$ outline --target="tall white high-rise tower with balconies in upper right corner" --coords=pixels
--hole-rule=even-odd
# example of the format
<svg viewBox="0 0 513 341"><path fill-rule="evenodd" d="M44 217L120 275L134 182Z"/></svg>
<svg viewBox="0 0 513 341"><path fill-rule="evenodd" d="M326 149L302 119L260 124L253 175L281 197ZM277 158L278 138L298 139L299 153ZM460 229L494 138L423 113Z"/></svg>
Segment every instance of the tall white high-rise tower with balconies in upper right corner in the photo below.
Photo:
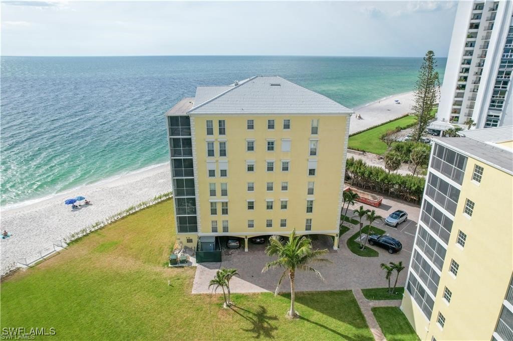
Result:
<svg viewBox="0 0 513 341"><path fill-rule="evenodd" d="M513 2L461 1L437 120L475 128L513 124Z"/></svg>

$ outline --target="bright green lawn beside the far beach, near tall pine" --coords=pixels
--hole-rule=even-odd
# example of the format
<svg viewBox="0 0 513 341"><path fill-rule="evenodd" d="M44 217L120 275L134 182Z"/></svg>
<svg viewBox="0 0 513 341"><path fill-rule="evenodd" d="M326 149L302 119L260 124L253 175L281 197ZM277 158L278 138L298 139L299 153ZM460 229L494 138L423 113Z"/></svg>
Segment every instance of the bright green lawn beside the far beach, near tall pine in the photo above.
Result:
<svg viewBox="0 0 513 341"><path fill-rule="evenodd" d="M415 122L415 116L406 116L353 135L349 137L348 148L383 155L387 151L387 146L380 140L380 136L398 126L405 129L413 122Z"/></svg>

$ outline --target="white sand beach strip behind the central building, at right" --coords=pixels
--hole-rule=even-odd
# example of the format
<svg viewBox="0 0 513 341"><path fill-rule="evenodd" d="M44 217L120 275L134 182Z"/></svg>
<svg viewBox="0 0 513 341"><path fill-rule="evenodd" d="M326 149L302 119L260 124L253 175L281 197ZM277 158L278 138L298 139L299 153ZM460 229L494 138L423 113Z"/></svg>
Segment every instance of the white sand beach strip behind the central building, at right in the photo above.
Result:
<svg viewBox="0 0 513 341"><path fill-rule="evenodd" d="M394 100L401 104L396 104ZM349 134L358 133L371 126L401 117L410 112L413 104L413 92L392 95L380 100L354 108L355 114L351 116ZM362 119L357 119L361 115Z"/></svg>

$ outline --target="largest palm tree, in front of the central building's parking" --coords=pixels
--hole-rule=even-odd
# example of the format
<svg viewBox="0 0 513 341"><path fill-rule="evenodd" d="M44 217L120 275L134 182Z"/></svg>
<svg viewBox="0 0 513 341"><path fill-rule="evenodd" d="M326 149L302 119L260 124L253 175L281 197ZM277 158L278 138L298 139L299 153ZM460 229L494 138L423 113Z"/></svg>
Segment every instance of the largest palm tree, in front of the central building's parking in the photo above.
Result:
<svg viewBox="0 0 513 341"><path fill-rule="evenodd" d="M272 268L285 269L280 277L280 280L278 281L278 286L274 291L274 295L278 294L280 284L282 283L285 276L288 274L290 279L290 310L287 311L287 316L289 318L294 318L298 316L298 313L294 310L295 271L312 271L321 280L323 280L321 273L318 270L309 266L308 264L313 262L330 262L325 258L320 258L321 255L327 252L327 249L312 250L312 244L310 239L304 236L296 236L295 229L293 229L292 232L290 232L290 236L286 242L283 241L282 237L280 236L272 236L271 238L269 238L269 245L267 245L265 253L267 253L267 255L270 256L277 255L278 259L268 262L262 269L262 272L265 272Z"/></svg>

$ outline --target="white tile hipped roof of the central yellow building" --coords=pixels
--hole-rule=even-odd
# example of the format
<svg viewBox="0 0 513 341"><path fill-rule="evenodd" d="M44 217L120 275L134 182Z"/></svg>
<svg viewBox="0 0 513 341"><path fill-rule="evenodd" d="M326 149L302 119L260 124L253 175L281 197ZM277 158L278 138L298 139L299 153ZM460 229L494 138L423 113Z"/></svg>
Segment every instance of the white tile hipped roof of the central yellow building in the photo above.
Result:
<svg viewBox="0 0 513 341"><path fill-rule="evenodd" d="M326 96L278 76L255 76L228 87L199 87L189 114L349 114Z"/></svg>

